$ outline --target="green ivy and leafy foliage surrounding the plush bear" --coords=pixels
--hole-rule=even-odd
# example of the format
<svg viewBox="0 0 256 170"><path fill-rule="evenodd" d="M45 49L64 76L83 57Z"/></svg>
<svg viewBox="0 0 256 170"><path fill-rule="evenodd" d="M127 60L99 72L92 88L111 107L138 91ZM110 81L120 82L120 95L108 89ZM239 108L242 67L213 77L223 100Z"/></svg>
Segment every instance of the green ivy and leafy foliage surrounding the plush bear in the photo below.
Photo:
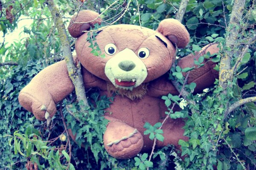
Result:
<svg viewBox="0 0 256 170"><path fill-rule="evenodd" d="M101 13L113 2L55 1L66 24L79 9L86 8ZM118 1L104 12L102 18L109 20L109 23L115 21L127 3ZM116 24L140 25L137 3L141 25L152 29L156 29L165 18L175 18L180 6L180 0L131 0L128 12ZM186 48L178 49L177 56L184 57L199 51L202 46L211 42L224 44L224 37L228 34L225 28L229 23L233 3L233 0L190 0L182 23L188 29L191 40ZM86 113L81 104L73 102L75 95L72 94L58 105L59 111L49 127L19 105L19 91L39 71L61 59L61 44L44 0L2 0L0 12L0 31L3 35L0 63L11 61L15 64L0 67L0 169L171 169L175 165L184 169L256 169L255 103L242 105L227 117L224 117L224 108L220 107L227 102L233 103L242 98L256 96L255 44L250 46L236 76L229 82L232 88L227 89L227 94L221 93L218 80L215 87L200 95L192 95L193 87L186 86L190 92L188 99L196 101L196 105L187 105L182 112L174 113L176 117L181 115L187 118L184 129L189 141L180 141L183 150L181 155L186 155L184 161L177 157L172 146L154 150L153 159L150 161L150 153L141 153L135 159L116 160L108 156L102 144L102 133L107 122L101 115L111 99L99 96L97 89L87 91L91 105L89 113ZM7 34L19 31L15 28L24 17L32 19L30 26L24 27L26 37L14 42L4 40ZM255 23L255 0L246 0L243 19L240 21L241 35L239 34L238 44L242 46L242 38L255 31ZM71 37L70 42L74 50L74 39ZM221 57L219 54L212 60L218 62ZM235 62L234 59L233 63ZM171 74L177 75L179 72L181 70L176 68ZM176 77L181 82L183 78ZM167 107L175 101L178 104L183 102L173 96L163 99L167 101ZM191 109L195 112L191 113ZM70 140L71 159L67 140L58 139L62 133L67 136L60 111L68 128L77 132L77 144ZM81 144L85 149L80 148ZM71 164L68 164L69 161Z"/></svg>

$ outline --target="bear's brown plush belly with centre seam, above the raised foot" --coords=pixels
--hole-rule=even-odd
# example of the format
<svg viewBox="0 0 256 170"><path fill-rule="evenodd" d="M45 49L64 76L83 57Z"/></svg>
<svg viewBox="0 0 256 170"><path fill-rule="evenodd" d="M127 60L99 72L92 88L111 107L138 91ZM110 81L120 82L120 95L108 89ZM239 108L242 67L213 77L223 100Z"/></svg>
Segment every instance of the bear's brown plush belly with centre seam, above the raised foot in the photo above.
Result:
<svg viewBox="0 0 256 170"><path fill-rule="evenodd" d="M108 92L102 91L101 94L106 95ZM149 122L151 125L160 122L160 119L165 117L167 108L164 100L160 98L145 95L143 99L131 100L126 96L116 95L110 108L107 108L106 111L106 116L119 119L142 130L145 122Z"/></svg>

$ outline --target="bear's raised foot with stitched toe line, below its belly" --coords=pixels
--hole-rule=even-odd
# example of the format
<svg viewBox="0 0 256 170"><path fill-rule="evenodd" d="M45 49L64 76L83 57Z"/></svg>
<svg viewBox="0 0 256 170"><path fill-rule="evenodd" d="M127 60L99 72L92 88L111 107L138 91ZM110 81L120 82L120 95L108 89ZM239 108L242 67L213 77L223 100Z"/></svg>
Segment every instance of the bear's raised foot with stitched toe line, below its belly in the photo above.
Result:
<svg viewBox="0 0 256 170"><path fill-rule="evenodd" d="M105 116L111 122L103 135L105 149L117 159L128 159L136 156L143 147L141 133L118 119Z"/></svg>

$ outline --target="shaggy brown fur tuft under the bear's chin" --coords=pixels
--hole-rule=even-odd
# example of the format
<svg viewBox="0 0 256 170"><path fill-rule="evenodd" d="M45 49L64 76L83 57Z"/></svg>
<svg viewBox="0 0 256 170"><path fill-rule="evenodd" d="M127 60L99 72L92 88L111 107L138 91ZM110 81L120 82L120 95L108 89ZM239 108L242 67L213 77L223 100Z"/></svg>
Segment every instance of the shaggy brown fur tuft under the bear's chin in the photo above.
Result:
<svg viewBox="0 0 256 170"><path fill-rule="evenodd" d="M126 96L131 100L142 99L148 91L148 83L143 83L132 91L129 91L122 88L116 88L111 82L107 82L107 89L110 94L116 93L122 97Z"/></svg>

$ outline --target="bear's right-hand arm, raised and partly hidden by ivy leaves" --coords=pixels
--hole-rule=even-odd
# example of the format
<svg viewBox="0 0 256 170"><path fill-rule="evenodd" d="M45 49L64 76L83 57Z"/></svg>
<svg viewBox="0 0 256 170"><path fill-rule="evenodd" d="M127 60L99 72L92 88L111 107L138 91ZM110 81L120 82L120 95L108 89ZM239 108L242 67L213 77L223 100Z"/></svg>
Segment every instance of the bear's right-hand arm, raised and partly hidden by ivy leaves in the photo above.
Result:
<svg viewBox="0 0 256 170"><path fill-rule="evenodd" d="M177 65L181 68L186 67L194 67L194 60L198 60L200 56L207 54L209 51L210 54L218 53L217 44L207 45L202 48L201 51L197 52L195 55L189 54L186 57L180 59ZM204 61L205 65L201 68L195 68L194 70L189 72L189 76L187 79L187 84L191 82L196 83L196 88L194 93L198 93L203 91L205 88L210 87L215 82L215 79L218 79L218 71L215 71L213 68L215 67L215 63L212 61ZM186 74L183 73L183 76L186 77ZM154 97L166 96L169 93L172 95L178 95L179 92L176 90L172 82L168 79L169 74L166 73L163 76L154 79L148 85L148 95Z"/></svg>

